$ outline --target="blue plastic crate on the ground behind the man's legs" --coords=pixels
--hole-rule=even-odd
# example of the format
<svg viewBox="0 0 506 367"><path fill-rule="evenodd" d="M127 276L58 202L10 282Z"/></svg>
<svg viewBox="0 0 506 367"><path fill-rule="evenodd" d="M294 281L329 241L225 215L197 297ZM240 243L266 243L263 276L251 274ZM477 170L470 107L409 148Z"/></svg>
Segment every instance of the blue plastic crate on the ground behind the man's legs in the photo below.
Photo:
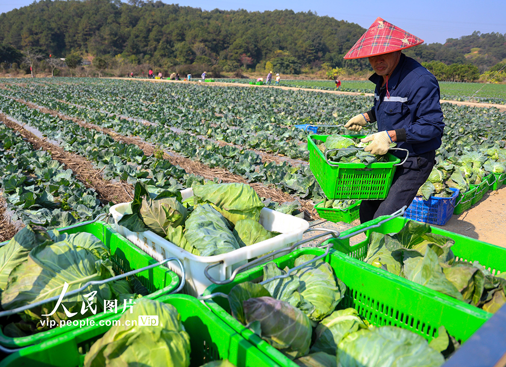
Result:
<svg viewBox="0 0 506 367"><path fill-rule="evenodd" d="M450 197L431 196L429 200L424 200L423 197L416 196L404 212L404 218L444 226L453 215L458 196L458 189L450 188L450 190L453 191Z"/></svg>

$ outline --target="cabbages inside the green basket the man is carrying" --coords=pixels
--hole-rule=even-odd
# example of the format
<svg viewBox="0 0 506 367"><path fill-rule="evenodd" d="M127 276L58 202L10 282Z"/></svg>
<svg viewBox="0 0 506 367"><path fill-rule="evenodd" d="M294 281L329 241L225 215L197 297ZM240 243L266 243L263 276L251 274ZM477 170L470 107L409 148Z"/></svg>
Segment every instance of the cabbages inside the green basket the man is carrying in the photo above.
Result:
<svg viewBox="0 0 506 367"><path fill-rule="evenodd" d="M317 147L323 152L323 155L331 149L364 148L370 144L370 142L362 143L360 138L350 139L343 135L329 135L325 142L321 140L314 140L314 142L319 144ZM391 144L391 147L395 146L395 143ZM333 151L328 154L328 159L332 162L362 163L364 165L387 161L384 155L371 154L363 149Z"/></svg>

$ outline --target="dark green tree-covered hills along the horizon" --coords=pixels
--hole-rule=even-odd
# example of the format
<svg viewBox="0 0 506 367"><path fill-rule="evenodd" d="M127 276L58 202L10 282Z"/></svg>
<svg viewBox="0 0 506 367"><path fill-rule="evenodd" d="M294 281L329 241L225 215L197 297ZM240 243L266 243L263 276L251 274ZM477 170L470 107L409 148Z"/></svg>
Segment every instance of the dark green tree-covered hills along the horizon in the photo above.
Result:
<svg viewBox="0 0 506 367"><path fill-rule="evenodd" d="M310 11L202 11L160 1L42 0L0 15L0 62L4 69L19 64L30 50L40 59L98 58L95 64L102 69L120 60L164 70L205 65L216 76L268 68L285 74L322 68L354 73L370 69L367 60L343 59L364 31L355 23ZM405 53L432 63L433 70L466 65L453 66L446 74L443 70L449 80L457 69L465 78L477 79L506 59L506 36L476 31Z"/></svg>

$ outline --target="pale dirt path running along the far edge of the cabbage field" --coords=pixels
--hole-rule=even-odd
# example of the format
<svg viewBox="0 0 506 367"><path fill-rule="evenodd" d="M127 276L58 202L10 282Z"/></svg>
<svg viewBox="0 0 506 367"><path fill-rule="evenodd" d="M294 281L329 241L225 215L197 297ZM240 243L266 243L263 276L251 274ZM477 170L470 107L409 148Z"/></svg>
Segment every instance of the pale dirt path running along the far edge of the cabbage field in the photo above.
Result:
<svg viewBox="0 0 506 367"><path fill-rule="evenodd" d="M111 79L120 79L120 80L133 80L133 81L150 81L151 83L192 83L191 81L184 80L170 80L170 79L132 79L132 78L111 78ZM198 83L198 82L197 82ZM283 86L257 86L255 84L242 84L242 83L226 83L223 81L209 81L206 83L200 83L200 85L206 86L221 86L221 87L252 87L252 88L279 88L285 91L309 91L309 92L319 92L319 93L330 93L330 94L344 94L349 96L367 96L374 97L374 93L359 93L359 92L341 92L341 91L327 91L324 89L309 89L309 88L299 88L299 87L283 87ZM472 106L472 107L484 107L490 108L495 107L500 109L501 111L506 111L506 105L497 104L497 103L477 103L477 102L461 102L461 101L450 101L441 99L440 103L451 103L459 106Z"/></svg>

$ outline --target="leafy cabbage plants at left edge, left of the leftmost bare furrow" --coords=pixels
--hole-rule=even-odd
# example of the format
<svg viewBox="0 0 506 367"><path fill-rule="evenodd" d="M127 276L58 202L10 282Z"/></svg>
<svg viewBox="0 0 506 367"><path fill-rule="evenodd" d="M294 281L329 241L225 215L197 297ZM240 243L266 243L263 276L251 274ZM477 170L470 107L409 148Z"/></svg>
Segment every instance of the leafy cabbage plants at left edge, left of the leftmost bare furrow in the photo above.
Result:
<svg viewBox="0 0 506 367"><path fill-rule="evenodd" d="M0 183L13 221L61 227L108 211L72 170L0 124Z"/></svg>

